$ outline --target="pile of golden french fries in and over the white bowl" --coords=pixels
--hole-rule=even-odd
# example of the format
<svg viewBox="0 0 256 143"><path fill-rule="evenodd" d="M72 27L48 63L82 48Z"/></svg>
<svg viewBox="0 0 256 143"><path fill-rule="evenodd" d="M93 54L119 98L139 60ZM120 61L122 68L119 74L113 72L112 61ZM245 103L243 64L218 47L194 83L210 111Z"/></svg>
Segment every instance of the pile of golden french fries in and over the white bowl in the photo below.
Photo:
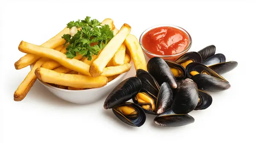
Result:
<svg viewBox="0 0 256 143"><path fill-rule="evenodd" d="M105 86L108 82L131 69L131 59L135 69L147 71L146 61L137 38L130 34L131 26L123 24L116 29L113 20L107 18L102 26L108 24L114 37L98 55L87 60L79 53L73 59L67 58L63 34L69 34L67 27L41 46L20 42L18 49L26 53L15 62L15 69L32 65L22 83L14 93L14 100L26 97L36 79L52 86L67 90L84 90Z"/></svg>

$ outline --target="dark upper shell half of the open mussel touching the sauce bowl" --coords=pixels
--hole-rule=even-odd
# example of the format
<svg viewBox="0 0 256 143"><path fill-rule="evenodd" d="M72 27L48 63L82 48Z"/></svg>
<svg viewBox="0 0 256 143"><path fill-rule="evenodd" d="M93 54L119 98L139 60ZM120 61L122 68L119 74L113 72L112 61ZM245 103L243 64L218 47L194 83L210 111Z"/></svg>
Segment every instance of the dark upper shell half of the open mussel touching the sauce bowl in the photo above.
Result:
<svg viewBox="0 0 256 143"><path fill-rule="evenodd" d="M202 63L202 57L198 52L190 51L183 55L181 55L177 60L175 60L176 63L181 63L184 60L193 60L194 62Z"/></svg>

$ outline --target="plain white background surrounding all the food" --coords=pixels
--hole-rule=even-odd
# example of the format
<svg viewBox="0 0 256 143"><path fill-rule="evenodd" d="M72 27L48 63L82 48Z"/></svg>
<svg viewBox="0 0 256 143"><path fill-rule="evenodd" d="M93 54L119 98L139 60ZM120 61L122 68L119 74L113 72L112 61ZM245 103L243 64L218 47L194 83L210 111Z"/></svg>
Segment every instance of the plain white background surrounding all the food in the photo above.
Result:
<svg viewBox="0 0 256 143"><path fill-rule="evenodd" d="M248 2L59 2L0 3L0 143L255 143L256 4ZM49 93L38 82L21 102L13 100L29 67L15 70L24 54L21 40L41 45L71 20L86 16L99 21L112 18L120 29L131 26L138 38L148 27L174 24L192 36L190 51L214 44L216 53L239 63L224 74L231 88L210 93L212 105L189 113L195 123L163 128L147 115L140 128L122 123L102 99L91 105L68 103ZM134 68L128 74L134 76Z"/></svg>

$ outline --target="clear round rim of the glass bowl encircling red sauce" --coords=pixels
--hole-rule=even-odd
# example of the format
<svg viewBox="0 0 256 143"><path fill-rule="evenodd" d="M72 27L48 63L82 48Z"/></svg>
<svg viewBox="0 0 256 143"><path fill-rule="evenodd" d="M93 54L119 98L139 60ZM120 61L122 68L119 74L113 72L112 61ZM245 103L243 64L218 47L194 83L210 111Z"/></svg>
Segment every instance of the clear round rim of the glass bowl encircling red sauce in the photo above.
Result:
<svg viewBox="0 0 256 143"><path fill-rule="evenodd" d="M173 28L179 29L179 30L183 31L189 37L189 44L188 44L188 46L182 52L177 53L177 54L172 54L172 55L158 55L158 54L151 53L150 51L148 51L147 49L144 48L144 46L142 44L143 36L148 31L150 31L151 29L158 28L158 27L163 27L163 26L173 27ZM159 25L151 26L148 29L146 29L145 31L143 31L143 33L140 35L139 42L140 42L140 46L143 49L143 51L146 52L147 54L151 55L151 56L154 56L154 57L177 57L177 56L180 56L180 55L186 53L187 51L189 51L189 49L192 46L192 37L190 36L188 31L186 31L185 29L183 29L183 28L181 28L179 26L172 25L172 24L159 24Z"/></svg>

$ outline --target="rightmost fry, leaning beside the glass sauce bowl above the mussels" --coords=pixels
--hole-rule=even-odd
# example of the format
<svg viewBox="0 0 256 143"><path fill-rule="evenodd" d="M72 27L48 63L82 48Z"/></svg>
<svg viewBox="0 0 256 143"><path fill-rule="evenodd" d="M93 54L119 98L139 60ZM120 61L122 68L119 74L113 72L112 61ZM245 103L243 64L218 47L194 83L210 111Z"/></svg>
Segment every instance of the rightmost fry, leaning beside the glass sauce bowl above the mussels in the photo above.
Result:
<svg viewBox="0 0 256 143"><path fill-rule="evenodd" d="M136 71L137 69L143 69L147 71L145 56L137 38L134 35L129 34L125 39L125 46L131 53Z"/></svg>

